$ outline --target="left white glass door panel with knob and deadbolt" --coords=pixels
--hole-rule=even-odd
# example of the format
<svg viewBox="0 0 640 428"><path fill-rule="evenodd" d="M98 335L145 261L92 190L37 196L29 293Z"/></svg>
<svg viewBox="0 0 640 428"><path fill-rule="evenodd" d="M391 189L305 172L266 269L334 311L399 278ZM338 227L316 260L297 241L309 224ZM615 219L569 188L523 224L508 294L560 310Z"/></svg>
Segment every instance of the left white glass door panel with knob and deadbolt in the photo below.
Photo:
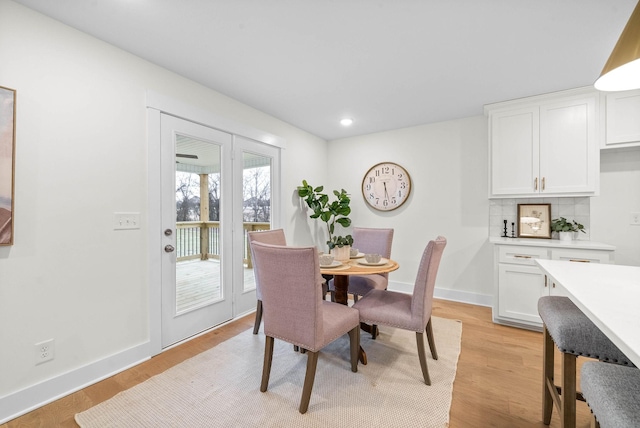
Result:
<svg viewBox="0 0 640 428"><path fill-rule="evenodd" d="M165 114L160 124L165 348L233 317L233 137Z"/></svg>

